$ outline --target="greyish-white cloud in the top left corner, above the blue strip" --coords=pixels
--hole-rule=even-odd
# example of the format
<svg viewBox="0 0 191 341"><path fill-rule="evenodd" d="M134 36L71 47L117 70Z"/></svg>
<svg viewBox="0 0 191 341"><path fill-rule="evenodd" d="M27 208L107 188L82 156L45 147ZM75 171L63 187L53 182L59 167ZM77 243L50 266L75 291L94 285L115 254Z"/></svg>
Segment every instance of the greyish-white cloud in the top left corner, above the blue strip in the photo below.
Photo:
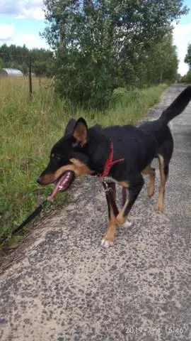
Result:
<svg viewBox="0 0 191 341"><path fill-rule="evenodd" d="M45 18L43 0L0 0L0 14L16 16L16 18Z"/></svg>

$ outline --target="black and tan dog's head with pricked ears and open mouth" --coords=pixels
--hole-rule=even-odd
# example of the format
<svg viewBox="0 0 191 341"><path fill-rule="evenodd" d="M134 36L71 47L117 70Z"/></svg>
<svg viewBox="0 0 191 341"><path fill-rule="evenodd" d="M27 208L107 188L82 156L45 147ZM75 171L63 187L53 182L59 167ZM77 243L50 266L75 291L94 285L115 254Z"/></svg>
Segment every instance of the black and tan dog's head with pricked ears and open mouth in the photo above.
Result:
<svg viewBox="0 0 191 341"><path fill-rule="evenodd" d="M54 183L57 193L58 190L69 188L76 176L95 173L92 159L96 154L100 155L102 140L104 141L104 138L100 126L88 129L83 118L78 121L71 119L62 139L52 147L50 162L37 178L37 183L40 185Z"/></svg>

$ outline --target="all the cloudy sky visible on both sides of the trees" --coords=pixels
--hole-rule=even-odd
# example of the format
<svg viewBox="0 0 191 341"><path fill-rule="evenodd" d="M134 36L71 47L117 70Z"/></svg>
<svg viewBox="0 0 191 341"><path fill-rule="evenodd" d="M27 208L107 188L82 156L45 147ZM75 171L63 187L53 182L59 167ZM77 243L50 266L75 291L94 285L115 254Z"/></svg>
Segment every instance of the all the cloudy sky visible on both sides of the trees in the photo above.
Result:
<svg viewBox="0 0 191 341"><path fill-rule="evenodd" d="M188 70L184 58L187 44L191 43L191 0L185 0L184 4L190 8L190 13L180 18L178 24L173 24L173 40L180 60L178 72L181 75ZM0 0L0 45L25 44L28 48L49 48L39 35L45 28L42 6L43 0Z"/></svg>

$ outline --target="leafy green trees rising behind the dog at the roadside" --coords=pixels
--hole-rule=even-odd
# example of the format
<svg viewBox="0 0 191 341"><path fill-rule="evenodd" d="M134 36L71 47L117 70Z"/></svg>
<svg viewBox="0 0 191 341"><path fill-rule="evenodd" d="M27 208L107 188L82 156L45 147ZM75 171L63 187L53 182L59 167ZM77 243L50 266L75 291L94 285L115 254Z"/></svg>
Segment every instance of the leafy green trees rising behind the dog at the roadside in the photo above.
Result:
<svg viewBox="0 0 191 341"><path fill-rule="evenodd" d="M116 87L174 80L175 51L163 39L170 23L187 13L182 0L45 0L45 8L43 36L55 51L63 97L105 107ZM160 44L172 60L168 75L156 58Z"/></svg>

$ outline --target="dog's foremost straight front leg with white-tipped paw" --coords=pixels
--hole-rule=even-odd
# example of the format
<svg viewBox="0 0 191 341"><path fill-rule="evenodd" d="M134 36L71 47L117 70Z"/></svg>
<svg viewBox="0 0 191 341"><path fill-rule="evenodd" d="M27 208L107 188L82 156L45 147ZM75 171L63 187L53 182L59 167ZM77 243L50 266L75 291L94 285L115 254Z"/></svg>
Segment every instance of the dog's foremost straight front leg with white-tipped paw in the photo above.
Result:
<svg viewBox="0 0 191 341"><path fill-rule="evenodd" d="M103 187L105 185L103 183ZM116 205L116 188L115 183L108 183L108 188L106 189L105 196L108 203L108 230L105 236L102 239L101 244L104 247L109 247L115 241L115 233L116 233L116 216L119 211Z"/></svg>

